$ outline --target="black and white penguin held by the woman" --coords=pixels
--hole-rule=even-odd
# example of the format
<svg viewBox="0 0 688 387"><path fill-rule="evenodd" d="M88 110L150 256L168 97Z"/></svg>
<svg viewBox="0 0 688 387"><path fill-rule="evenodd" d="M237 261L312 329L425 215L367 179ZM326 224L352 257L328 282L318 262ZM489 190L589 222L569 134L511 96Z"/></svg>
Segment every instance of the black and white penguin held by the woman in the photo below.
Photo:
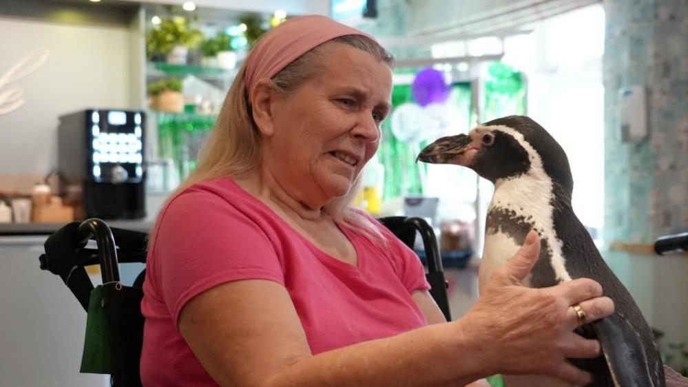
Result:
<svg viewBox="0 0 688 387"><path fill-rule="evenodd" d="M494 184L479 288L514 256L528 231L537 231L541 250L526 286L542 288L592 278L614 300L613 315L576 329L583 337L598 339L603 356L570 362L592 373L591 386L665 387L663 362L651 329L576 218L568 159L543 127L526 116L498 118L468 135L435 140L417 160L468 167ZM537 375L505 375L505 381L508 387L568 386Z"/></svg>

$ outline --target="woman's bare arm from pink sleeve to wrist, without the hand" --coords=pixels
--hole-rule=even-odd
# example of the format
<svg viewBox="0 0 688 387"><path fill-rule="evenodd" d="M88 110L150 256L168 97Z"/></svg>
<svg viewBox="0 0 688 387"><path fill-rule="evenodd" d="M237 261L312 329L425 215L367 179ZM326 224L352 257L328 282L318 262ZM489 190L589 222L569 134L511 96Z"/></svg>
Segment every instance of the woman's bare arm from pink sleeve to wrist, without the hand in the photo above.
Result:
<svg viewBox="0 0 688 387"><path fill-rule="evenodd" d="M444 386L490 373L463 361L478 343L456 324L311 355L284 287L267 280L216 286L183 308L179 330L221 386ZM461 361L459 361L461 359Z"/></svg>

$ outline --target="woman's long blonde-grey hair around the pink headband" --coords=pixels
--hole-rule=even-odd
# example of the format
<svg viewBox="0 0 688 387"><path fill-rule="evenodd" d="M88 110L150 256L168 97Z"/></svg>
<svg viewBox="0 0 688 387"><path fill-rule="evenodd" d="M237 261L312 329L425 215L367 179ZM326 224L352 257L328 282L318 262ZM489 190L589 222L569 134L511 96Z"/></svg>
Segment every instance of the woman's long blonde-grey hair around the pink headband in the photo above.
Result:
<svg viewBox="0 0 688 387"><path fill-rule="evenodd" d="M275 74L271 79L275 90L289 95L317 72L322 71L323 50L331 43L351 45L368 52L373 58L386 63L390 68L394 67L392 54L373 39L363 35L340 36L306 52ZM199 152L196 169L167 198L163 209L191 185L225 176L242 178L255 172L260 166L262 139L256 123L253 122L249 91L246 90L244 79L247 63L250 60L251 53L241 66L222 103L218 121ZM384 241L386 238L379 231L379 225L375 224L375 220L362 216L351 206L359 187L360 176L356 178L346 195L334 198L324 206L324 209L335 222L345 224L368 238ZM156 223L160 222L162 213L163 211L160 211L158 214Z"/></svg>

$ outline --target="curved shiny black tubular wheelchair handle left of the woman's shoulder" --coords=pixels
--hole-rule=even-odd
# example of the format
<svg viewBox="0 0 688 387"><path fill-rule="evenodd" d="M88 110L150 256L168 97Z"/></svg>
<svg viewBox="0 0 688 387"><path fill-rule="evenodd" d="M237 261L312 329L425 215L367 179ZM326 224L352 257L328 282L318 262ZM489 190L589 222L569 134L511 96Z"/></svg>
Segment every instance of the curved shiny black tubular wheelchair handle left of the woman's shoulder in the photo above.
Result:
<svg viewBox="0 0 688 387"><path fill-rule="evenodd" d="M98 218L84 220L79 224L79 237L90 239L91 236L98 244L98 260L101 264L103 284L119 282L117 249L110 226Z"/></svg>

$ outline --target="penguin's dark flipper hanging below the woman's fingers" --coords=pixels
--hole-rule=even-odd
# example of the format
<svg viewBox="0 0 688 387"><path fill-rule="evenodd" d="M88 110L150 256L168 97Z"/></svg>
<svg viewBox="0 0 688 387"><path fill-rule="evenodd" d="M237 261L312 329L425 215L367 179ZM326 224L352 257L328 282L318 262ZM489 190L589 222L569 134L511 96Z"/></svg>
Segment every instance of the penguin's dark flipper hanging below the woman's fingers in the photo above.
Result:
<svg viewBox="0 0 688 387"><path fill-rule="evenodd" d="M665 387L661 364L648 359L640 333L622 315L614 313L593 322L609 373L616 387Z"/></svg>

